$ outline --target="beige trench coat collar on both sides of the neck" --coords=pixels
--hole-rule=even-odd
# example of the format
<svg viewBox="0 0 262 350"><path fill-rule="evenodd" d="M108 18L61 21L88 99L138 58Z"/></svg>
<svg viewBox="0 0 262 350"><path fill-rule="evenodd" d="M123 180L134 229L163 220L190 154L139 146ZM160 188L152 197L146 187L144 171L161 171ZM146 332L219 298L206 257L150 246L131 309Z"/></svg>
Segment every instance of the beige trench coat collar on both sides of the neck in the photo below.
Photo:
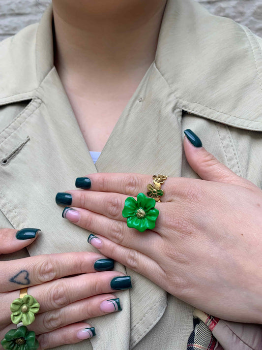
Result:
<svg viewBox="0 0 262 350"><path fill-rule="evenodd" d="M12 57L0 63L0 104L33 95L54 66L52 17L50 4L39 25L7 39L6 55L11 52ZM168 0L155 64L183 110L260 130L262 54L258 40L246 27L211 15L196 1ZM20 60L21 52L27 62ZM5 75L6 71L13 71L12 76Z"/></svg>

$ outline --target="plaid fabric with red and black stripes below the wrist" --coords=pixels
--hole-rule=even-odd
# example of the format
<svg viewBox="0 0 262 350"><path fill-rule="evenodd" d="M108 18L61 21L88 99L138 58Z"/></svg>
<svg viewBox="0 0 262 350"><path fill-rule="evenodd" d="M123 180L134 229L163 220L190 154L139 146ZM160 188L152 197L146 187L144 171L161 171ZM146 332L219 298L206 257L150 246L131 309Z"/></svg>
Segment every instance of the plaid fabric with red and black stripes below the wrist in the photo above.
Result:
<svg viewBox="0 0 262 350"><path fill-rule="evenodd" d="M190 334L187 350L214 350L217 340L212 330L217 325L219 318L210 316L198 309L194 310L194 330Z"/></svg>

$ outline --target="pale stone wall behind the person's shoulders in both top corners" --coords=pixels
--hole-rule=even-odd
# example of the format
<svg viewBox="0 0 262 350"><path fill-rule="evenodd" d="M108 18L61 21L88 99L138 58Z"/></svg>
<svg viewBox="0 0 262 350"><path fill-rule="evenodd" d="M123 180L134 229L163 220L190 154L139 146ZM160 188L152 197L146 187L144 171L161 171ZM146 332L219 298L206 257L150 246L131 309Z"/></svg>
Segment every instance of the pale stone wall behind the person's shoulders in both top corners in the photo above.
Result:
<svg viewBox="0 0 262 350"><path fill-rule="evenodd" d="M0 0L0 40L39 19L51 0ZM211 13L230 17L262 36L262 0L198 0Z"/></svg>

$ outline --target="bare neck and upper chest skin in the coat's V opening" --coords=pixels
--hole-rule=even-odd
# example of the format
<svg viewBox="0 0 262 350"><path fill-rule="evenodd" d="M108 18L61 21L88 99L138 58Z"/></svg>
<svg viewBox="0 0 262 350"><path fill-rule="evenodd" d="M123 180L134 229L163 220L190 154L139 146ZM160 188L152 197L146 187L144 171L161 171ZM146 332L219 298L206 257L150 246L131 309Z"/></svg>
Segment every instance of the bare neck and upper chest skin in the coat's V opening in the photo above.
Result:
<svg viewBox="0 0 262 350"><path fill-rule="evenodd" d="M102 151L155 58L166 0L53 0L55 66L90 151Z"/></svg>

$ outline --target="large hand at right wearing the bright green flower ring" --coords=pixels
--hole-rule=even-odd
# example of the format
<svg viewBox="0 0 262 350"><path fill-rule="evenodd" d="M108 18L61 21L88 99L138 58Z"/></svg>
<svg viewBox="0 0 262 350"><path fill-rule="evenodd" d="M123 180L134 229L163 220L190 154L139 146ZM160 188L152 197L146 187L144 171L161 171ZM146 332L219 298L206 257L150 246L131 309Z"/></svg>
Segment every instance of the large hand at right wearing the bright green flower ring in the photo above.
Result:
<svg viewBox="0 0 262 350"><path fill-rule="evenodd" d="M87 175L89 191L67 191L76 212L66 218L94 232L88 241L103 255L179 299L219 318L262 323L262 190L186 137L184 150L202 179L165 181L153 230L129 228L122 217L125 199L146 193L150 175Z"/></svg>

